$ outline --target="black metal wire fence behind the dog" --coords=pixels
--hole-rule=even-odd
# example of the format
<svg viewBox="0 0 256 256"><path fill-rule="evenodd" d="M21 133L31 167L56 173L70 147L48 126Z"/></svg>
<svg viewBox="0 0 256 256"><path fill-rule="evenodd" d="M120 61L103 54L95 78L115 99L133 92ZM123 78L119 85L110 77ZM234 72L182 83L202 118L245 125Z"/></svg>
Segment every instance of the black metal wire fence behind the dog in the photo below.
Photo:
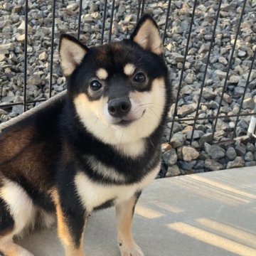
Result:
<svg viewBox="0 0 256 256"><path fill-rule="evenodd" d="M152 1L146 1L146 0L139 0L137 3L137 20L139 19L140 16L142 16L144 14L144 12L147 12L147 7L149 6L149 2ZM174 3L173 3L174 2ZM101 43L108 43L112 40L113 37L113 33L112 33L112 27L113 27L113 22L115 17L115 0L112 1L107 1L107 0L103 0L101 1L101 9L100 9L100 14L101 14L101 18L102 18L102 27L101 27ZM173 106L173 116L171 117L171 119L169 120L169 128L170 128L170 139L171 139L171 134L173 134L174 132L174 124L176 122L189 122L189 124L192 124L193 129L192 129L192 134L191 134L191 139L190 139L190 144L192 144L193 142L193 136L194 136L194 131L196 129L196 124L198 121L200 120L211 120L210 122L213 125L212 128L212 141L214 139L215 136L215 131L216 131L216 125L218 123L218 119L225 119L225 118L235 118L235 126L233 127L233 132L231 132L229 134L229 137L235 137L236 134L236 129L238 127L238 122L240 120L240 118L242 117L248 117L248 116L252 116L253 114L255 114L254 111L250 111L250 112L243 112L242 111L242 103L245 99L245 95L247 92L247 88L250 85L250 76L252 73L252 70L255 68L255 55L256 55L256 50L254 50L254 53L251 57L248 57L247 60L250 60L250 68L248 70L248 75L247 75L247 80L245 83L245 87L244 87L244 91L242 93L242 95L240 96L240 105L239 105L239 110L236 114L230 114L230 113L226 113L223 114L220 109L222 107L222 103L223 103L223 97L225 95L225 92L227 90L227 86L228 86L228 81L230 78L230 70L232 70L232 67L234 65L234 61L235 61L235 50L237 49L237 42L238 42L238 38L240 38L241 36L241 23L242 23L242 19L243 16L245 14L245 7L248 4L247 1L240 1L240 16L238 17L235 26L233 26L233 30L235 30L235 38L233 38L233 42L232 44L230 44L230 46L232 46L232 48L230 48L230 54L228 56L228 64L226 65L225 68L225 78L223 79L223 87L220 90L220 99L218 102L218 107L215 109L215 112L213 112L212 115L210 116L206 116L206 117L201 117L200 116L200 110L201 110L201 104L202 104L202 95L203 95L203 90L206 87L206 80L208 77L208 66L210 64L210 56L213 54L213 48L215 46L215 31L216 28L218 26L218 22L219 22L219 18L220 18L220 13L221 13L221 6L223 5L223 1L219 0L217 1L218 3L218 8L215 10L215 15L213 17L213 22L212 27L211 27L211 31L210 31L210 36L208 36L208 53L206 54L206 58L204 58L203 60L203 67L204 67L204 73L203 73L203 78L201 79L201 81L198 81L200 83L199 87L200 87L200 93L198 95L198 102L196 102L196 109L194 110L193 114L190 117L180 117L178 116L177 112L178 112L178 102L179 100L181 100L181 90L184 86L184 73L186 72L186 60L188 58L188 52L191 48L191 37L193 37L193 29L195 28L194 23L194 17L196 14L196 10L198 8L198 5L202 5L205 4L206 1L198 1L198 0L194 0L193 2L191 1L189 4L191 5L191 9L189 11L188 14L188 19L190 20L190 26L188 27L188 30L183 32L183 38L186 39L186 46L183 49L183 52L181 53L183 55L183 61L182 66L181 66L181 70L179 72L179 78L178 78L178 83L176 84L176 91L177 91L177 96L176 96L176 103ZM28 0L25 0L25 6L24 6L24 16L25 16L25 41L24 41L24 45L23 45L23 53L24 53L24 65L23 65L23 101L22 102L1 102L0 107L3 109L8 109L11 107L14 107L15 105L23 105L23 111L26 111L28 109L28 106L31 107L31 105L35 105L38 102L42 102L46 99L39 99L39 100L28 100L27 97L27 90L28 90L28 85L27 85L27 69L28 69L28 39L29 39L29 35L28 35L28 15L29 15L29 9L28 9ZM52 1L52 26L51 26L51 50L50 50L50 78L49 78L49 93L48 93L48 97L52 97L52 92L53 92L53 64L54 64L54 60L53 60L53 55L54 55L54 49L58 48L58 46L55 45L55 35L58 34L58 31L55 31L55 16L56 16L56 11L58 11L58 6L61 5L65 5L67 3L65 3L65 1L56 1L53 0ZM82 0L78 1L79 4L79 11L78 14L75 14L76 18L78 19L77 23L77 31L75 32L77 34L77 37L80 38L82 31L81 31L81 23L82 23L82 14L83 14L83 9L82 9ZM166 35L167 33L171 33L171 29L172 29L172 23L174 22L172 20L172 11L176 8L174 6L175 1L165 1L165 6L166 9L164 9L164 14L162 14L162 18L165 18L165 23L164 26L162 26L163 29L161 29L161 33L163 35L163 43L164 46L166 46L168 44L168 42L166 42ZM109 17L107 20L107 16ZM110 23L108 28L106 28L107 23ZM107 31L107 37L106 37L106 31ZM66 32L70 32L70 31L66 31ZM171 51L171 50L166 50L167 51ZM170 64L171 66L171 64ZM0 85L0 95L1 95L1 91L2 91L3 86ZM1 98L0 98L1 99ZM253 128L255 129L255 127Z"/></svg>

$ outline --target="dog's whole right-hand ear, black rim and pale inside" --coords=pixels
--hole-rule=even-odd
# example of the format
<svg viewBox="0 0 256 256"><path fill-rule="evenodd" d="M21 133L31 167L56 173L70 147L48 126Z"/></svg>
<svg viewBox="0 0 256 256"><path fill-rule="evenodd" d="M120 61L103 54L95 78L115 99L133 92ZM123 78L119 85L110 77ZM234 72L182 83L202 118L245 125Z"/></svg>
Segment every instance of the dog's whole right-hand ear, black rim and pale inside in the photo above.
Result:
<svg viewBox="0 0 256 256"><path fill-rule="evenodd" d="M157 55L164 52L159 28L149 14L142 16L130 39L145 50L150 50Z"/></svg>

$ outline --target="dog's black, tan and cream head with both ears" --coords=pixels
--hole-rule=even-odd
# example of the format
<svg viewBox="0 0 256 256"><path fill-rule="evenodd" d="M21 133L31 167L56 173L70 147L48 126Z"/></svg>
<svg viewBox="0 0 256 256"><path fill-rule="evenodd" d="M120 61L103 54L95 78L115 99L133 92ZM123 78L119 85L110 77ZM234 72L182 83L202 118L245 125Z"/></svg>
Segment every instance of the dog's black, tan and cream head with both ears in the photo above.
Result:
<svg viewBox="0 0 256 256"><path fill-rule="evenodd" d="M80 122L107 144L149 137L163 121L168 71L159 29L144 16L129 40L87 48L60 38L60 64Z"/></svg>

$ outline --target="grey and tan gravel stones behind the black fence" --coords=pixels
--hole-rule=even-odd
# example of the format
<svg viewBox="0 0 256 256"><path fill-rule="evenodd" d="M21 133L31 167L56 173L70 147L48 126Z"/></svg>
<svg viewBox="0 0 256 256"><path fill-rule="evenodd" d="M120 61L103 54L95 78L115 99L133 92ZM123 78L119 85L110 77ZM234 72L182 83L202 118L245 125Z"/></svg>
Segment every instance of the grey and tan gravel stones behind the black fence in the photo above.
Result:
<svg viewBox="0 0 256 256"><path fill-rule="evenodd" d="M107 6L105 43L110 31L111 2ZM256 165L255 139L247 137L250 117L240 117L233 132L236 118L232 114L248 114L256 102L256 63L250 83L245 90L253 47L256 41L256 4L247 1L242 18L240 36L235 48L227 86L220 105L223 85L230 63L230 53L237 31L243 1L223 0L220 18L211 49L205 87L199 104L198 119L191 142L193 121L174 123L174 134L169 142L174 105L162 138L163 166L160 176L177 176L203 171ZM28 2L28 78L27 100L45 100L49 95L50 44L52 1ZM103 0L83 0L80 40L87 46L101 42ZM168 1L146 1L145 11L151 14L164 32ZM191 41L188 48L181 93L178 97L178 118L195 117L201 85L206 68L211 33L218 8L217 1L199 1L196 8ZM169 65L174 97L181 78L186 49L186 38L191 21L193 1L171 1L169 28L166 32L165 58ZM55 40L53 49L53 93L65 90L58 58L58 41L61 33L77 35L79 1L56 1ZM5 122L23 112L21 105L1 107L6 103L23 101L23 68L25 16L24 0L3 0L0 3L0 122ZM122 40L133 31L137 20L137 1L116 0L112 39ZM241 102L245 94L245 100ZM242 108L240 110L240 105ZM34 105L29 105L28 109ZM220 107L224 118L218 119L215 137L212 137L215 115Z"/></svg>

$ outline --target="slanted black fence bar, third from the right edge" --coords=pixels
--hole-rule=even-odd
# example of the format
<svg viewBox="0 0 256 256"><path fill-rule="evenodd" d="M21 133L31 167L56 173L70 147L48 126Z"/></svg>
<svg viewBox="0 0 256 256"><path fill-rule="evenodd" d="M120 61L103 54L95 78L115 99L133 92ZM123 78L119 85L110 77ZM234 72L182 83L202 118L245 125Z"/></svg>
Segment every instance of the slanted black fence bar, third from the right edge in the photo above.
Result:
<svg viewBox="0 0 256 256"><path fill-rule="evenodd" d="M201 99L202 99L202 95L203 95L203 88L204 88L204 85L205 85L205 82L206 82L206 75L207 75L208 65L209 65L209 62L210 62L210 53L211 53L211 50L213 48L213 43L215 41L215 31L216 31L217 24L218 24L218 18L220 16L220 6L221 6L221 4L222 4L222 0L219 1L218 10L217 10L217 13L216 13L216 16L215 16L213 35L212 35L212 37L210 39L210 49L208 51L208 56L207 56L207 60L206 60L206 70L205 70L205 72L203 74L203 82L202 82L202 85L201 85L200 95L199 95L199 98L198 98L198 105L196 107L196 115L195 115L195 117L198 117L198 112L199 112L199 109L200 109L200 103L201 103ZM193 123L193 129L192 129L192 133L191 133L190 144L192 144L192 142L193 142L193 134L195 132L195 128L196 128L196 119L195 119L195 122Z"/></svg>

